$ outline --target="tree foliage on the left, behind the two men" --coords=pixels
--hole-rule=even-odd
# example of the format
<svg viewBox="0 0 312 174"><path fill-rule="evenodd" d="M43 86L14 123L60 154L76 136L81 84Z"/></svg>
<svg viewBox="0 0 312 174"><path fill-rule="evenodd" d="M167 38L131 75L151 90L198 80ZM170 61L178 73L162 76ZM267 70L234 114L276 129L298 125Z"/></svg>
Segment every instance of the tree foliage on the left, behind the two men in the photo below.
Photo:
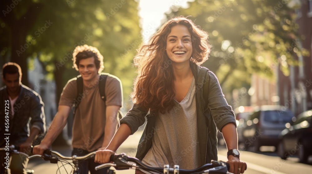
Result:
<svg viewBox="0 0 312 174"><path fill-rule="evenodd" d="M136 1L16 0L17 4L12 3L0 2L3 13L0 51L6 61L22 66L24 84L32 59L37 57L46 69L46 77L55 78L59 96L66 81L78 75L72 68L73 50L77 45L88 44L99 49L104 57L104 72L121 79L125 99L128 98L135 76L131 63L142 40Z"/></svg>

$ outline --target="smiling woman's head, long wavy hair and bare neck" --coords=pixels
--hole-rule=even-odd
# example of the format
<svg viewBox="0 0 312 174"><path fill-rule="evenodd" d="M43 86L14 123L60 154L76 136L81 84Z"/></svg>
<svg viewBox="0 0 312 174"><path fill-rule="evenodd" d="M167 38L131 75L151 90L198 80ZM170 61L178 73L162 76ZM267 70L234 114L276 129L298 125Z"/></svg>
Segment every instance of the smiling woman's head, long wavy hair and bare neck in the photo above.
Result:
<svg viewBox="0 0 312 174"><path fill-rule="evenodd" d="M175 89L175 86L190 86L190 83L185 84L185 81L191 82L190 78L193 77L190 62L200 65L208 59L210 45L207 38L207 32L198 29L186 18L177 17L167 21L148 44L139 48L134 58L139 72L132 93L134 102L161 113L172 109L175 99L184 98L188 92L188 88ZM171 65L166 66L167 62ZM178 69L179 72L188 74L184 74L182 79L177 79L175 75ZM177 95L179 92L181 97Z"/></svg>

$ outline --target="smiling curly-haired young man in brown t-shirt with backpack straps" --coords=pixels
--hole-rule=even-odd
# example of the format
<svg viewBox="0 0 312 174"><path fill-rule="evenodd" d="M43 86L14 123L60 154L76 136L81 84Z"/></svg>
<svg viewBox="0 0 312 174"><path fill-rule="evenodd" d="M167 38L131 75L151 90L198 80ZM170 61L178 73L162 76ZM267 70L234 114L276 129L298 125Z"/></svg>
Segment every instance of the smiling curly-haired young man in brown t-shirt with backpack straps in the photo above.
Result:
<svg viewBox="0 0 312 174"><path fill-rule="evenodd" d="M83 93L79 94L80 104L76 108L73 123L73 155L83 156L90 152L105 149L112 139L117 125L117 113L122 107L122 87L120 80L108 75L105 83L106 101L100 96L100 72L103 70L103 56L97 48L77 46L73 53L74 67L83 80ZM61 94L58 112L56 113L46 137L33 153L42 154L61 133L67 122L71 106L77 102L77 78L67 82ZM80 101L81 100L81 101ZM106 173L107 169L95 171L99 163L94 160L80 163L79 173Z"/></svg>

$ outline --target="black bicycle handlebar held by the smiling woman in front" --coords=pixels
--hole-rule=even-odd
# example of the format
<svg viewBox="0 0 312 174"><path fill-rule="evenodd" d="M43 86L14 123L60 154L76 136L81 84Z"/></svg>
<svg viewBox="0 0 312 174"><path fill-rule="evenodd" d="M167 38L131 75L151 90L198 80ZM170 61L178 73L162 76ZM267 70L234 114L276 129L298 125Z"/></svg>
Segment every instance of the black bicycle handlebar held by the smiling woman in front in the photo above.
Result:
<svg viewBox="0 0 312 174"><path fill-rule="evenodd" d="M142 163L139 159L129 157L125 153L111 155L110 161L114 163L102 164L100 166L95 167L95 170L112 166L115 167L116 170L125 170L134 167L143 169L145 171L154 171L158 173L163 173L164 171L167 171L167 173L176 173L178 171L178 173L181 174L190 174L197 172L227 173L227 170L229 170L230 168L230 165L223 161L212 161L210 164L204 164L201 167L198 167L193 170L179 169L179 166L176 165L174 166L174 168L169 168L169 165L164 165L164 167L149 167L144 163ZM135 164L129 162L133 162Z"/></svg>

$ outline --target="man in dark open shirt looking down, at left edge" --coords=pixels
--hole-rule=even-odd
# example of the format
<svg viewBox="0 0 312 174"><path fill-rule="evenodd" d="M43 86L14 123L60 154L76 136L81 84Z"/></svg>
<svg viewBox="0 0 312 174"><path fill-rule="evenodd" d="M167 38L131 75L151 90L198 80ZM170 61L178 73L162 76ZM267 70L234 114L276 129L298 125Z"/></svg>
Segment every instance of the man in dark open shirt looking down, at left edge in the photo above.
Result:
<svg viewBox="0 0 312 174"><path fill-rule="evenodd" d="M31 145L36 140L37 135L44 133L46 129L43 102L38 93L22 85L22 70L18 64L12 62L4 64L2 80L5 86L0 89L0 133L7 137L0 140L0 147L7 146L8 143L19 147L17 150L20 152L29 154ZM28 124L29 118L31 120ZM8 121L5 121L7 119ZM5 126L9 127L9 129L6 130ZM1 172L4 173L7 166L3 162L4 157L2 155ZM24 166L27 165L27 156L11 155L11 173L26 174Z"/></svg>

